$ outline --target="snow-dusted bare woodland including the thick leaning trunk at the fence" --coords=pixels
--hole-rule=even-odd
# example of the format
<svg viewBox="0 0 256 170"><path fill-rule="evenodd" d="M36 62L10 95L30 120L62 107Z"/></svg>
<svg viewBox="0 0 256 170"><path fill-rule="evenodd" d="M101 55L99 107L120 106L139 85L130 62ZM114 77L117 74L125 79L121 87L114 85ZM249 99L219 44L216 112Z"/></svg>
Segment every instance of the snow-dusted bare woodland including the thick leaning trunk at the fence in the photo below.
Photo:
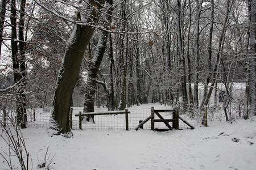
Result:
<svg viewBox="0 0 256 170"><path fill-rule="evenodd" d="M174 104L193 115L221 97L226 121L230 108L252 117L255 2L1 0L0 107L22 128L28 108L52 107L56 134L71 131L71 106Z"/></svg>

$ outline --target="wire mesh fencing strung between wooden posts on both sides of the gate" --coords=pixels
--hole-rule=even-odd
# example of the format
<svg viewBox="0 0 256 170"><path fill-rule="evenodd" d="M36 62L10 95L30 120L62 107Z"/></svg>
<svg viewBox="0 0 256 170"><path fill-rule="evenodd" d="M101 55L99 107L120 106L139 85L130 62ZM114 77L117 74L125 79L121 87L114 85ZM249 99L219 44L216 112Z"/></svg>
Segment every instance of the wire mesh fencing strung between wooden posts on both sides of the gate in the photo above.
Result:
<svg viewBox="0 0 256 170"><path fill-rule="evenodd" d="M75 116L75 114L79 114L79 112L82 112L83 108L76 108L72 107L72 129L79 129L79 116ZM135 129L141 121L146 120L146 118L151 116L151 108L128 108L130 113L128 114L128 120L129 120L129 130ZM108 111L107 108L101 108L101 109L95 109L95 112L104 112ZM172 118L172 112L164 112L160 113L161 116L164 119L171 119ZM201 115L195 114L194 117L192 117L189 114L184 114L183 112L179 112L180 116L182 116L186 121L189 122L189 124L196 126L200 124L199 117ZM0 113L1 121L3 121L3 112ZM49 124L49 118L51 116L51 108L39 108L39 109L28 109L27 110L27 127L38 127L38 128L44 128L47 127ZM158 118L157 116L155 116ZM14 122L15 118L12 115L12 118L8 118L6 121L6 124L11 124L11 121ZM172 126L172 122L170 122L170 125ZM167 128L167 126L163 122L155 122L155 128L156 129L164 129ZM187 129L189 128L187 124L184 124L183 121L179 120L179 129ZM109 114L109 115L97 115L94 116L94 122L88 121L86 117L83 117L82 120L82 129L94 129L94 130L125 130L126 129L126 119L125 114ZM151 121L147 121L145 124L143 124L143 129L151 129Z"/></svg>

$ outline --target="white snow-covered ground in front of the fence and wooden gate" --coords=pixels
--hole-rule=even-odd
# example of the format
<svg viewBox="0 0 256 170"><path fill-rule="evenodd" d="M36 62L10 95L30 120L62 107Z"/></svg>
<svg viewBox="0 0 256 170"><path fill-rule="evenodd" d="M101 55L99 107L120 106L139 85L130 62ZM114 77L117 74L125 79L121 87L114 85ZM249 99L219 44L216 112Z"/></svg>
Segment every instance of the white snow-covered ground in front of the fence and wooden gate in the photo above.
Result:
<svg viewBox="0 0 256 170"><path fill-rule="evenodd" d="M50 137L46 128L29 127L22 133L32 169L37 169L47 148L50 169L255 169L256 116L208 124L164 132L72 130L72 138ZM2 138L0 144L7 149ZM18 160L13 158L13 163L17 167ZM0 167L7 168L1 157Z"/></svg>

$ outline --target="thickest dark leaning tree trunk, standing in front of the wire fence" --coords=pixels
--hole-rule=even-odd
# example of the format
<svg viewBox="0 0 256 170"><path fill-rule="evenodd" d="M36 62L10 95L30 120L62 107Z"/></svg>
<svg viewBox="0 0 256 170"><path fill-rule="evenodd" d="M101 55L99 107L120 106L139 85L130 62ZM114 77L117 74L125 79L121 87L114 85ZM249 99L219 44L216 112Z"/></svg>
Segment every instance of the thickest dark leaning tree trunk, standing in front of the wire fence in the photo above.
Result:
<svg viewBox="0 0 256 170"><path fill-rule="evenodd" d="M85 23L98 22L98 11L96 8L102 6L105 1L89 1L88 14ZM100 3L100 4L99 4ZM64 54L59 75L53 96L53 109L48 132L51 134L62 134L65 137L71 136L69 126L69 109L71 107L72 93L77 77L79 76L80 66L86 46L94 32L94 27L90 25L76 25Z"/></svg>

